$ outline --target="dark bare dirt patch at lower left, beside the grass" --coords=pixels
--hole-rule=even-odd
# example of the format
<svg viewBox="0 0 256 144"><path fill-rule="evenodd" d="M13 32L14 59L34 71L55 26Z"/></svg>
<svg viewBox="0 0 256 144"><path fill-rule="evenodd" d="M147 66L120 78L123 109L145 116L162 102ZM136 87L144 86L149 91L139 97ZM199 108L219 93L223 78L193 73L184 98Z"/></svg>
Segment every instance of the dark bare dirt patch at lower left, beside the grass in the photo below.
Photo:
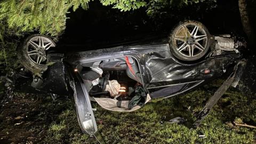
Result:
<svg viewBox="0 0 256 144"><path fill-rule="evenodd" d="M65 103L53 102L47 95L14 93L12 98L3 99L0 109L0 143L42 141L47 125L65 107L63 105Z"/></svg>

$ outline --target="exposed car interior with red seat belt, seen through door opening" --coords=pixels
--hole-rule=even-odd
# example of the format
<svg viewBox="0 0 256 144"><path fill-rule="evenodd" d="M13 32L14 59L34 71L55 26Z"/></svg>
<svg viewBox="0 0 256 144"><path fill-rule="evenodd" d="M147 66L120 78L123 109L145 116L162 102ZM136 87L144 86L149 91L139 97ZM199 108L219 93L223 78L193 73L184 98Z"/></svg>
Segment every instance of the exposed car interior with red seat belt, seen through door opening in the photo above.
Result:
<svg viewBox="0 0 256 144"><path fill-rule="evenodd" d="M142 86L138 62L131 56L83 63L80 72L90 97L131 100Z"/></svg>

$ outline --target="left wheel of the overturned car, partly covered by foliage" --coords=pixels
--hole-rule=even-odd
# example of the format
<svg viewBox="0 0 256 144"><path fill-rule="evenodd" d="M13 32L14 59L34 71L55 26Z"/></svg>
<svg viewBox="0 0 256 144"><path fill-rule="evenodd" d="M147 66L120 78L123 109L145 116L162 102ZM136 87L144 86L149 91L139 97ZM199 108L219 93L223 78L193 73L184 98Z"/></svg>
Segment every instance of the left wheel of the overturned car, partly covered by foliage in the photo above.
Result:
<svg viewBox="0 0 256 144"><path fill-rule="evenodd" d="M32 73L42 73L47 70L47 51L55 46L50 37L30 35L18 47L18 59Z"/></svg>

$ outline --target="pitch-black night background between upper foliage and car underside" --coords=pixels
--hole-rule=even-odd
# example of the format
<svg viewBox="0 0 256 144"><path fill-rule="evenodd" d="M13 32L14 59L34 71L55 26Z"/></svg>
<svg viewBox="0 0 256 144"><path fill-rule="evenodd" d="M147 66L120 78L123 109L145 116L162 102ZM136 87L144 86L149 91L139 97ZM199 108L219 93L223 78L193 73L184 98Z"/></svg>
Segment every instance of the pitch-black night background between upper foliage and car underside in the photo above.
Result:
<svg viewBox="0 0 256 144"><path fill-rule="evenodd" d="M134 42L154 41L166 38L173 26L182 20L198 20L204 23L210 34L234 34L245 36L237 1L218 1L217 6L189 6L171 10L161 18L149 18L145 9L120 12L99 1L89 3L89 10L79 8L68 13L65 33L59 46L66 51L92 50Z"/></svg>

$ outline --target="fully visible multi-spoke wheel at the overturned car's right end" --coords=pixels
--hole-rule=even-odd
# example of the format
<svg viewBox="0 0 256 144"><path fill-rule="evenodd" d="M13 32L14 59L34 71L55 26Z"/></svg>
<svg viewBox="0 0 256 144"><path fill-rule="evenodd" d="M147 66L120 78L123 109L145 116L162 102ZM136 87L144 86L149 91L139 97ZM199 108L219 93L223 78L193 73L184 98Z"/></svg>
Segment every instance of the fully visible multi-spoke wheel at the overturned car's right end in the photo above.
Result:
<svg viewBox="0 0 256 144"><path fill-rule="evenodd" d="M169 35L170 51L179 60L196 61L209 51L210 37L201 22L180 22Z"/></svg>

